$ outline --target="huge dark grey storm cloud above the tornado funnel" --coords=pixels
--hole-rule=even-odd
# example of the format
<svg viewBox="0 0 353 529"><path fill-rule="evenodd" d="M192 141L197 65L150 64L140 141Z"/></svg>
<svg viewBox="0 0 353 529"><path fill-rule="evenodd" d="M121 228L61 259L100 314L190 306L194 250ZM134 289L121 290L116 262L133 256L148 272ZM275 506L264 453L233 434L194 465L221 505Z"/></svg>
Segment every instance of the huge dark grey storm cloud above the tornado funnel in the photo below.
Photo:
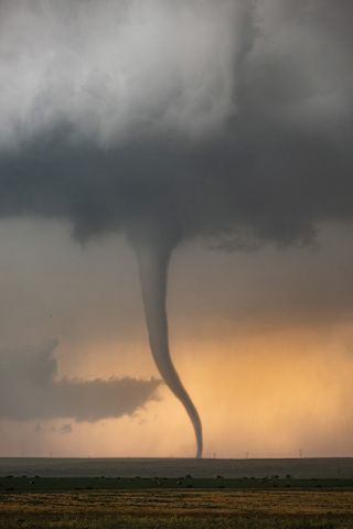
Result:
<svg viewBox="0 0 353 529"><path fill-rule="evenodd" d="M0 9L2 216L231 248L352 219L351 2Z"/></svg>

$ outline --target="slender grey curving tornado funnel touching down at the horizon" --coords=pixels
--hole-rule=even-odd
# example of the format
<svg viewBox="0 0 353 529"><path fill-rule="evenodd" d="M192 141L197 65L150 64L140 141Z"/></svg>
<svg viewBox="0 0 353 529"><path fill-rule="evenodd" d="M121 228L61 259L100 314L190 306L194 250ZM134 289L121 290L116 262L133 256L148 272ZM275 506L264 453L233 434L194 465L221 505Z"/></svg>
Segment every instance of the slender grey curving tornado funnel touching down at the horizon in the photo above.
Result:
<svg viewBox="0 0 353 529"><path fill-rule="evenodd" d="M191 420L196 440L195 456L201 457L203 439L200 415L176 373L169 349L165 300L172 245L156 234L133 237L132 245L138 261L150 349L163 381L181 401Z"/></svg>

